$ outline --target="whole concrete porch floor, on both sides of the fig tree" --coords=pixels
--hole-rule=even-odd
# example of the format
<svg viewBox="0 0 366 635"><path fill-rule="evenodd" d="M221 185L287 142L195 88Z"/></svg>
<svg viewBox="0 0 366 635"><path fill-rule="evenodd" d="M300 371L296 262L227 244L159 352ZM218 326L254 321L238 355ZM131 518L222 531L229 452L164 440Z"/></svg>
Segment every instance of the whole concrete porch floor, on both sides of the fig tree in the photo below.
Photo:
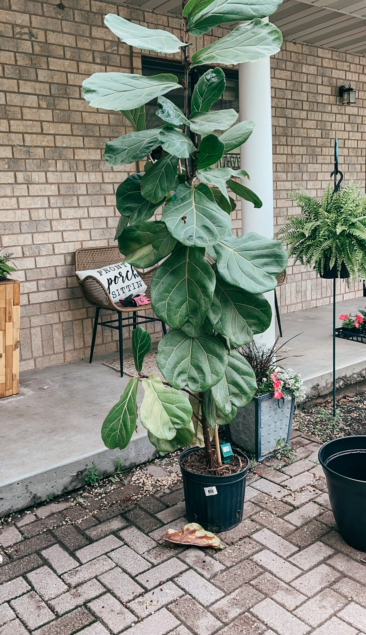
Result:
<svg viewBox="0 0 366 635"><path fill-rule="evenodd" d="M337 304L339 315L359 311L363 298ZM332 385L332 305L282 316L289 358L282 364L299 370L310 396L327 394ZM366 375L366 345L337 338L339 383ZM128 351L126 351L127 353ZM119 377L102 361L116 354L22 373L20 394L0 400L0 515L72 490L94 461L112 473L115 457L126 467L154 456L147 432L124 451L106 450L101 424L118 401L128 377ZM138 392L141 403L143 392Z"/></svg>

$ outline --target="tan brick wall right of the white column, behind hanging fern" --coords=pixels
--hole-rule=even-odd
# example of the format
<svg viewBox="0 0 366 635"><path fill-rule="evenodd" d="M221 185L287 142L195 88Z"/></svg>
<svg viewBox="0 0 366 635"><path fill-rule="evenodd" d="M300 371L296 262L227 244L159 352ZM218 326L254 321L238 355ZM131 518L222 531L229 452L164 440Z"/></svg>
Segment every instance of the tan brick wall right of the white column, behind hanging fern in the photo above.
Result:
<svg viewBox="0 0 366 635"><path fill-rule="evenodd" d="M366 57L284 42L271 58L273 114L273 197L275 231L285 218L299 213L287 190L302 185L321 196L339 140L339 170L344 181L362 181L365 191ZM356 104L340 104L338 89L351 82ZM281 312L329 304L332 281L301 265L287 269L287 284L277 291ZM337 300L362 296L362 281L337 281Z"/></svg>

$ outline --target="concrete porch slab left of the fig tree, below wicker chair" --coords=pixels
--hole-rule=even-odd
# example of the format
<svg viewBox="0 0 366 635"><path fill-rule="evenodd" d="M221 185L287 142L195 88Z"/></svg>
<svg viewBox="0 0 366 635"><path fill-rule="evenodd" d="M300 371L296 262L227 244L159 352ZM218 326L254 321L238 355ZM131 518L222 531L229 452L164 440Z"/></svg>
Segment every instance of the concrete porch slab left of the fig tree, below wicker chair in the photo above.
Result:
<svg viewBox="0 0 366 635"><path fill-rule="evenodd" d="M126 351L128 354L129 351ZM84 484L95 462L112 474L155 455L138 422L128 450L106 450L100 430L129 380L103 361L116 353L22 373L19 394L1 399L0 516ZM138 405L143 390L138 391Z"/></svg>

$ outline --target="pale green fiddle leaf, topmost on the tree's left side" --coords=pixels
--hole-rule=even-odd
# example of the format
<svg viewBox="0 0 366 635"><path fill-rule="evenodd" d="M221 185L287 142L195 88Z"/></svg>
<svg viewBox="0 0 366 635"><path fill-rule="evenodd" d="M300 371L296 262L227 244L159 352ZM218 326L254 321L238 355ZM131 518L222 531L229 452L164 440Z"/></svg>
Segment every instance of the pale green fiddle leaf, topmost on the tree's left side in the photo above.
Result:
<svg viewBox="0 0 366 635"><path fill-rule="evenodd" d="M114 13L108 13L104 18L104 23L122 42L143 50L168 54L179 53L180 46L187 46L169 31L147 29L147 27L129 22L129 20Z"/></svg>

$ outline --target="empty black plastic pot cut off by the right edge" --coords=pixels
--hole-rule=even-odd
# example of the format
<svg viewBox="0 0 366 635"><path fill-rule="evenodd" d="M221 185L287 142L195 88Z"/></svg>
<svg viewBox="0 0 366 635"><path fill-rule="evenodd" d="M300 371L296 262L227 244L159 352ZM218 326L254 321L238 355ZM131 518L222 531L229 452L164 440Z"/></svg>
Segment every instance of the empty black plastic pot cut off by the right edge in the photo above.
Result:
<svg viewBox="0 0 366 635"><path fill-rule="evenodd" d="M366 436L325 443L319 450L319 461L343 539L353 549L366 551Z"/></svg>

